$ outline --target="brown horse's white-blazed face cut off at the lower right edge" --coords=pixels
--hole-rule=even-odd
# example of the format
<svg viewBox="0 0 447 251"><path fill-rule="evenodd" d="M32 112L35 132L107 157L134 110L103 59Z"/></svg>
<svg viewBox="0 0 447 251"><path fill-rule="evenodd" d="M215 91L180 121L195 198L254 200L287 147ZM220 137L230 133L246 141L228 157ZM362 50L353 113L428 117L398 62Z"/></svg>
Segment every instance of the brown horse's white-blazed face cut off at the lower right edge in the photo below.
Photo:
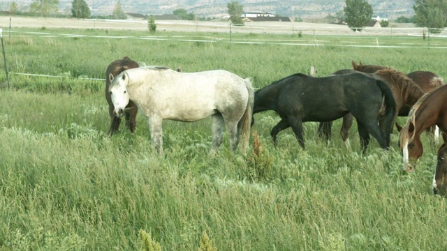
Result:
<svg viewBox="0 0 447 251"><path fill-rule="evenodd" d="M447 197L447 133L442 133L444 144L438 150L438 162L434 171L432 191Z"/></svg>

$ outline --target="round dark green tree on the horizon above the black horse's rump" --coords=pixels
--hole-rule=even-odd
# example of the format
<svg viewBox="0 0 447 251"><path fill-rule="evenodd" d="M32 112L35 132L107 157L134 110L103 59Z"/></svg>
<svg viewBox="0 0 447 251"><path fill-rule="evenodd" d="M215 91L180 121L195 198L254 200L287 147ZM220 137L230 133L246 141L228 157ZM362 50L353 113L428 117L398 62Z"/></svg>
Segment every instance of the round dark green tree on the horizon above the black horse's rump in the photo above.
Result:
<svg viewBox="0 0 447 251"><path fill-rule="evenodd" d="M344 7L346 23L353 31L362 31L372 17L372 7L366 0L346 0Z"/></svg>

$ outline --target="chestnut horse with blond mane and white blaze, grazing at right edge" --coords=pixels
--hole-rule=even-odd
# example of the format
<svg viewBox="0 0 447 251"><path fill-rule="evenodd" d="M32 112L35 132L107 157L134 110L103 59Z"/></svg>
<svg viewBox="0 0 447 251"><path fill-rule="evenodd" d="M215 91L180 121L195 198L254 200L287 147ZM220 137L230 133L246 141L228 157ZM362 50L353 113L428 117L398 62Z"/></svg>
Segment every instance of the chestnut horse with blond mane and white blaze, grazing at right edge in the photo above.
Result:
<svg viewBox="0 0 447 251"><path fill-rule="evenodd" d="M430 126L447 132L447 85L441 86L422 98L411 108L405 126L400 130L399 146L403 155L404 171L413 172L423 153L420 134Z"/></svg>

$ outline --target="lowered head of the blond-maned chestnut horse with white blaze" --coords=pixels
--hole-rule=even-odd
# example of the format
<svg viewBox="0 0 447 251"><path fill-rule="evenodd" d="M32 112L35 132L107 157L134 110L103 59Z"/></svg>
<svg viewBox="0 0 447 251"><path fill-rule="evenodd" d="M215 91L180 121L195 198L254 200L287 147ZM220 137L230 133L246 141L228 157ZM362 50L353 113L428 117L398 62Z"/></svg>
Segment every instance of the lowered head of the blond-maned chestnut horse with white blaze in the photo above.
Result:
<svg viewBox="0 0 447 251"><path fill-rule="evenodd" d="M400 129L400 130L399 130ZM404 172L414 172L416 162L423 153L422 142L420 142L420 132L416 131L413 121L408 121L399 130L399 147L402 152Z"/></svg>

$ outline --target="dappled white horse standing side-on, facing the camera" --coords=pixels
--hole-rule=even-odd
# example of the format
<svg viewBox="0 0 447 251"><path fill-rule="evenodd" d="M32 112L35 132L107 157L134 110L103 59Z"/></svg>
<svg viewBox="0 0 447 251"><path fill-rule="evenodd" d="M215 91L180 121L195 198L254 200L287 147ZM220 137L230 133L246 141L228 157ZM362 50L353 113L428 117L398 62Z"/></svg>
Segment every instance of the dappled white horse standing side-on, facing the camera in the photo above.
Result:
<svg viewBox="0 0 447 251"><path fill-rule="evenodd" d="M109 75L115 116L122 116L129 99L147 118L154 148L163 154L163 119L193 122L212 116L212 151L222 144L226 127L235 151L249 145L254 90L249 79L226 70L179 73L157 67L124 70Z"/></svg>

